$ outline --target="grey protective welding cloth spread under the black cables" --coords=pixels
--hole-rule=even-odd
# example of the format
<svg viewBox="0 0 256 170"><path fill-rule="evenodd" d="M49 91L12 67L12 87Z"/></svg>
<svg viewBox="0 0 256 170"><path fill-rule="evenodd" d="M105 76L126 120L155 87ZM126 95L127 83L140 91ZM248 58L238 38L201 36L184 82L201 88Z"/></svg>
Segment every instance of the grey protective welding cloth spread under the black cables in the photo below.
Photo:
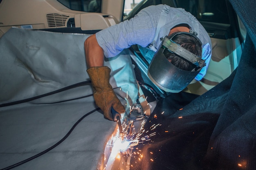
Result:
<svg viewBox="0 0 256 170"><path fill-rule="evenodd" d="M11 28L0 39L0 104L89 80L83 49L88 36ZM106 60L105 65L112 70L112 87L121 87L115 92L128 108L137 98L128 51ZM91 95L91 85L87 84L1 107L0 168L36 155L64 137L76 121L97 108ZM60 146L19 169L94 170L115 127L114 121L103 118L101 110L96 111L85 117Z"/></svg>

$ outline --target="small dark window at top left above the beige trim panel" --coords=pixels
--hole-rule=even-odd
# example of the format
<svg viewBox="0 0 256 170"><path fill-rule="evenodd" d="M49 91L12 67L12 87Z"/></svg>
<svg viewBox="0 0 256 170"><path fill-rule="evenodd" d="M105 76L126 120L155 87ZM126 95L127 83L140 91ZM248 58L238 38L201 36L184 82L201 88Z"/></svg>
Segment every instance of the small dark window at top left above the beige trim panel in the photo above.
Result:
<svg viewBox="0 0 256 170"><path fill-rule="evenodd" d="M101 0L58 0L65 7L84 12L101 12Z"/></svg>

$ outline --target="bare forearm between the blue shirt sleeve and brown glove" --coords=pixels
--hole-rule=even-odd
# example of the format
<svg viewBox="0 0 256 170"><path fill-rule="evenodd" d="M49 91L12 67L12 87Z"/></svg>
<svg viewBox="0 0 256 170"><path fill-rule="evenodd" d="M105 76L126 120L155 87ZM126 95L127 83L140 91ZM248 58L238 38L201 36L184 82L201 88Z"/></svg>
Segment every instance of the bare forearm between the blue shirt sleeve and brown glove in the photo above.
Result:
<svg viewBox="0 0 256 170"><path fill-rule="evenodd" d="M104 53L101 46L99 46L96 35L91 35L84 43L85 58L88 68L94 66L103 66Z"/></svg>

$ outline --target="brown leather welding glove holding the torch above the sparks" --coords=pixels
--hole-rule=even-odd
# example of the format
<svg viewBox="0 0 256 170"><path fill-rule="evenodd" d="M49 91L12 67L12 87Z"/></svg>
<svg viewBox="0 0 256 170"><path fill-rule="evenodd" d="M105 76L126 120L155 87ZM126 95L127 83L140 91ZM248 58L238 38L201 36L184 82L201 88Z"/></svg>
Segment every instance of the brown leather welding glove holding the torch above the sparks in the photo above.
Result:
<svg viewBox="0 0 256 170"><path fill-rule="evenodd" d="M93 96L97 106L103 110L106 119L113 120L111 107L118 113L124 113L125 108L109 83L110 71L107 66L100 66L89 68L87 73L92 81Z"/></svg>

